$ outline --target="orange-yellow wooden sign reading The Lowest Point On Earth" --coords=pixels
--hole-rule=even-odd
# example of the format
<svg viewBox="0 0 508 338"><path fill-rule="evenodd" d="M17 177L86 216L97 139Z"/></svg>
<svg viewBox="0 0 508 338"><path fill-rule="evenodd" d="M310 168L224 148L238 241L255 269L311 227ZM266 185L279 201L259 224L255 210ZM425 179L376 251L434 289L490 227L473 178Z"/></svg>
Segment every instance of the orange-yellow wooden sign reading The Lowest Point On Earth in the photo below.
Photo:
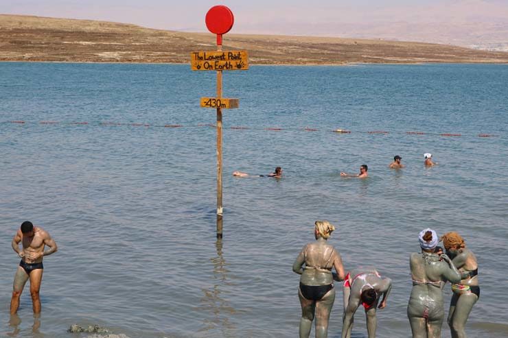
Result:
<svg viewBox="0 0 508 338"><path fill-rule="evenodd" d="M193 51L193 71L244 71L249 69L247 51Z"/></svg>

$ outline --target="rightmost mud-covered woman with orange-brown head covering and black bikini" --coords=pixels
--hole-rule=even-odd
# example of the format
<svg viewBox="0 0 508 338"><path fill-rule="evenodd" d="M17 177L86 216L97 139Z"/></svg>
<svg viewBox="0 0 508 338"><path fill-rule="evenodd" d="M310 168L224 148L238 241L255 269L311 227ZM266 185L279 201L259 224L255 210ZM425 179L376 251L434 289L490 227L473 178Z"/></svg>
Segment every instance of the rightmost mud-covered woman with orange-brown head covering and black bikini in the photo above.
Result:
<svg viewBox="0 0 508 338"><path fill-rule="evenodd" d="M452 338L465 338L465 322L478 298L478 263L476 256L465 247L464 240L457 232L447 232L441 237L446 254L461 273L461 281L452 285L453 296L448 311L448 325Z"/></svg>

